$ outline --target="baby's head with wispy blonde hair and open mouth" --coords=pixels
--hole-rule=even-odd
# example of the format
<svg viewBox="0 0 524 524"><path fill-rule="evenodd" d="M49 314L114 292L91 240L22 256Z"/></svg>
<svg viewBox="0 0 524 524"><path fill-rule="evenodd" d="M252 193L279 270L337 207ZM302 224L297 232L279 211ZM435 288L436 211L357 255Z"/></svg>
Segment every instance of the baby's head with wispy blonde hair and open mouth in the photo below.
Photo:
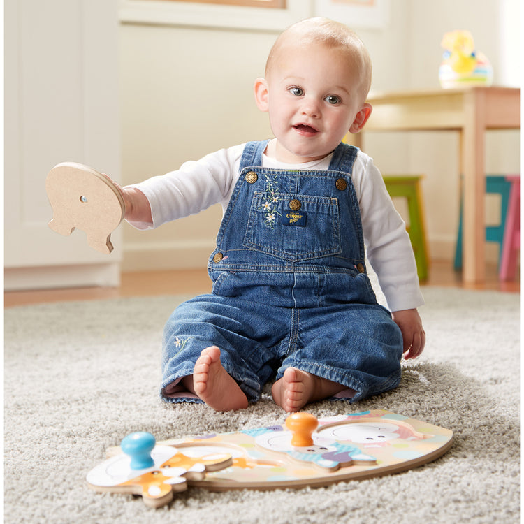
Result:
<svg viewBox="0 0 524 524"><path fill-rule="evenodd" d="M276 138L266 154L286 163L326 157L369 118L370 83L369 54L343 24L310 18L286 29L254 86Z"/></svg>

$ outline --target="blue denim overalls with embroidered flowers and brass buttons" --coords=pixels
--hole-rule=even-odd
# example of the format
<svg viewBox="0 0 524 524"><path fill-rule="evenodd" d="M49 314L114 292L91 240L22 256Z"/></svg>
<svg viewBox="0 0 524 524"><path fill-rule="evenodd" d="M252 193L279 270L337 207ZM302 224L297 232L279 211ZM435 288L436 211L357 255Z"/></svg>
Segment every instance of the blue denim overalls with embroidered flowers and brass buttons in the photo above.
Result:
<svg viewBox="0 0 524 524"><path fill-rule="evenodd" d="M351 402L399 384L402 334L365 270L351 182L358 150L341 143L327 171L288 171L261 167L266 145L242 154L209 260L212 294L182 303L166 323L167 402L199 401L176 384L212 345L250 402L287 367L346 385Z"/></svg>

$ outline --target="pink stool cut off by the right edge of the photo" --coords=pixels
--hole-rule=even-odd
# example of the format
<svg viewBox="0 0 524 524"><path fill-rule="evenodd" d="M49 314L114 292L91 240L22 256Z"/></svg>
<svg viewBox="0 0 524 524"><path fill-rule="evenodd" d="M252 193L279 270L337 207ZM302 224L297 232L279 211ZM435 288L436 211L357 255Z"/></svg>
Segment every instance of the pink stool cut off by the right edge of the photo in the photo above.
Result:
<svg viewBox="0 0 524 524"><path fill-rule="evenodd" d="M502 281L515 279L518 253L521 249L521 177L511 175L506 177L506 180L511 183L511 189L499 270L499 279Z"/></svg>

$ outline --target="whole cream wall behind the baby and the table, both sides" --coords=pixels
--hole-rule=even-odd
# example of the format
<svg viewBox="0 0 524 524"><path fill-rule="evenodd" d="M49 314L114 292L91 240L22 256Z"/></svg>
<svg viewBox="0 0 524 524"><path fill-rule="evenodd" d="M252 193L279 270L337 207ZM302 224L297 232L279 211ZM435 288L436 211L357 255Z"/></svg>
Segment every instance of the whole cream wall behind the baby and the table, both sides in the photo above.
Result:
<svg viewBox="0 0 524 524"><path fill-rule="evenodd" d="M494 66L495 82L518 84L517 10L518 0L484 0L481 8L476 0L391 0L385 27L356 28L374 62L372 89L439 89L440 41L453 29L472 31L476 47ZM252 84L263 75L276 35L122 24L123 182L138 182L220 147L270 136L267 115L254 104ZM518 133L493 135L488 138L488 171L518 172ZM427 175L430 252L451 258L458 209L455 133L370 133L365 150L384 173ZM442 213L449 202L457 205ZM124 224L124 270L205 266L220 218L220 209L212 208L156 231Z"/></svg>

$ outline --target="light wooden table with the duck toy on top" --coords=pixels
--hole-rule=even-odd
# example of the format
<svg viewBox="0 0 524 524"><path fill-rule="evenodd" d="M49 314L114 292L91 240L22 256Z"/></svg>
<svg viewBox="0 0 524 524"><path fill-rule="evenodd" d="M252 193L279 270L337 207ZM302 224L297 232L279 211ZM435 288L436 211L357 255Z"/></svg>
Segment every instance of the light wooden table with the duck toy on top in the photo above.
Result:
<svg viewBox="0 0 524 524"><path fill-rule="evenodd" d="M365 131L459 131L460 173L464 175L463 279L486 278L484 194L485 131L520 128L520 89L470 87L438 91L370 94L372 115ZM350 143L362 145L362 135Z"/></svg>

